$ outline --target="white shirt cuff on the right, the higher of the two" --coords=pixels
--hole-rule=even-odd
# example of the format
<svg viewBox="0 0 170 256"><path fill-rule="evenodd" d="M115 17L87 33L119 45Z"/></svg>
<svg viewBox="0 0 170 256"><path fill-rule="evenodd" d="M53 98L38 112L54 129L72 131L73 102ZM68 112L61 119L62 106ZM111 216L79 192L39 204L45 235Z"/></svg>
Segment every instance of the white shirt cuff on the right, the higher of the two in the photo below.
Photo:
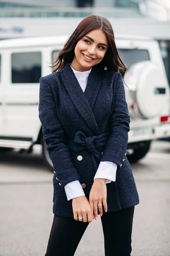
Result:
<svg viewBox="0 0 170 256"><path fill-rule="evenodd" d="M111 183L116 180L116 170L116 163L108 161L100 162L94 179L106 179L106 183Z"/></svg>

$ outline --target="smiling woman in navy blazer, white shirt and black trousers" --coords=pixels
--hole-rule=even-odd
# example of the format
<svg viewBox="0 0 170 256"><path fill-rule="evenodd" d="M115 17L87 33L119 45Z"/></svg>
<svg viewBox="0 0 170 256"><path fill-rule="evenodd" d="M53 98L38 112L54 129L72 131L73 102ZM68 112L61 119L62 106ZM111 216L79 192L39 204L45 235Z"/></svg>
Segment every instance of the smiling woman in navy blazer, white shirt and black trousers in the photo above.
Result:
<svg viewBox="0 0 170 256"><path fill-rule="evenodd" d="M111 23L89 15L40 79L39 117L54 166L54 220L45 256L72 256L101 216L105 256L129 256L139 204L126 157L130 118ZM56 72L58 71L58 72Z"/></svg>

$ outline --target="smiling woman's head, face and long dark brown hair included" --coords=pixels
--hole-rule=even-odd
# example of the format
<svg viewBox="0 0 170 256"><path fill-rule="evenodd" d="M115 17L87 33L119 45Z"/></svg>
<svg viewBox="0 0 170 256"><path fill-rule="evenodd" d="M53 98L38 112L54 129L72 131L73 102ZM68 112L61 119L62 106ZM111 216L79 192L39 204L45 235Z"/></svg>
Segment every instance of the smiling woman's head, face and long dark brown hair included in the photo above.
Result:
<svg viewBox="0 0 170 256"><path fill-rule="evenodd" d="M123 78L127 70L119 57L111 23L98 15L89 15L79 23L53 63L53 73L66 63L82 72L96 65L98 69L121 72Z"/></svg>

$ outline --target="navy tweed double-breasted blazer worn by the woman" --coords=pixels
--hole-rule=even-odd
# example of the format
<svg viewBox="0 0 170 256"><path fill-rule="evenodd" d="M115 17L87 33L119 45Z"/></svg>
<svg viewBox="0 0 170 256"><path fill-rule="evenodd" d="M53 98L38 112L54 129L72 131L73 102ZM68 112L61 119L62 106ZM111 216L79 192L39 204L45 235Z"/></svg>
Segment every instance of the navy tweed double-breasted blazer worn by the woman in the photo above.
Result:
<svg viewBox="0 0 170 256"><path fill-rule="evenodd" d="M120 73L92 67L84 93L69 64L40 78L39 118L56 172L54 214L73 217L72 200L67 201L64 186L79 180L86 184L84 192L89 198L100 161L118 166L116 181L106 185L108 212L139 204L125 156L130 117Z"/></svg>

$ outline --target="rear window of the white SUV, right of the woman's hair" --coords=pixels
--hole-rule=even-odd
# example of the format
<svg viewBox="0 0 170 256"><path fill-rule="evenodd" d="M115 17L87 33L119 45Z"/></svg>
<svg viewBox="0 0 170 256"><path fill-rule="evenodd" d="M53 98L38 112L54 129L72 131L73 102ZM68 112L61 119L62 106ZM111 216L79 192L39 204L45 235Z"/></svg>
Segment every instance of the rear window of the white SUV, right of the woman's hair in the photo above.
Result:
<svg viewBox="0 0 170 256"><path fill-rule="evenodd" d="M144 49L118 49L119 55L127 68L140 61L149 61L149 52Z"/></svg>

